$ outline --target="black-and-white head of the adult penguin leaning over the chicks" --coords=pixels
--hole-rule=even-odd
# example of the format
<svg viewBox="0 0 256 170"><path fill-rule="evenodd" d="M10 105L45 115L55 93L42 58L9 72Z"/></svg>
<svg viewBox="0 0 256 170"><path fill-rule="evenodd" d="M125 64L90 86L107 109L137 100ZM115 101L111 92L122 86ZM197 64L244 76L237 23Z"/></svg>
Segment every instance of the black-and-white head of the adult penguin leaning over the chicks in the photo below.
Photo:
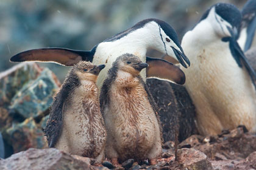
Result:
<svg viewBox="0 0 256 170"><path fill-rule="evenodd" d="M154 36L154 41L150 43L152 49L158 50L159 52L174 58L185 68L190 66L190 60L188 60L183 52L177 33L171 25L160 19L152 18L145 19L141 22L146 22L144 28L148 29L151 35ZM140 25L141 22L138 22L137 24ZM136 25L134 27L136 27Z"/></svg>

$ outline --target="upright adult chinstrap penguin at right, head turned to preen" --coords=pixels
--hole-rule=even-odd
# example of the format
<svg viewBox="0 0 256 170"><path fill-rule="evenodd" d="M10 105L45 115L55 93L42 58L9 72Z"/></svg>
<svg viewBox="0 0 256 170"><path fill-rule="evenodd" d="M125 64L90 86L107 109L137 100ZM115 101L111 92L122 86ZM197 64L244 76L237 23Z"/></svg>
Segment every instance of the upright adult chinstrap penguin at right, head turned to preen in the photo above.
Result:
<svg viewBox="0 0 256 170"><path fill-rule="evenodd" d="M185 87L203 135L240 124L256 131L255 72L236 42L241 18L235 5L215 4L182 39L191 61L190 68L182 69Z"/></svg>

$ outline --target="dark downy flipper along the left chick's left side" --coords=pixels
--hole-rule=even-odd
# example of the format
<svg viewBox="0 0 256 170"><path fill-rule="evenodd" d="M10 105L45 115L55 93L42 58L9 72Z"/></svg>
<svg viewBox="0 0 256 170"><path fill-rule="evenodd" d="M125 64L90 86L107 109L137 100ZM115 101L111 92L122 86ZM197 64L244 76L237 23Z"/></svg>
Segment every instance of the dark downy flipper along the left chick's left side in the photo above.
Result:
<svg viewBox="0 0 256 170"><path fill-rule="evenodd" d="M79 86L77 76L71 71L68 73L68 78L64 81L60 92L55 96L50 110L50 117L44 129L44 133L48 140L49 148L54 148L60 134L62 133L63 112L65 111L65 104L71 94Z"/></svg>

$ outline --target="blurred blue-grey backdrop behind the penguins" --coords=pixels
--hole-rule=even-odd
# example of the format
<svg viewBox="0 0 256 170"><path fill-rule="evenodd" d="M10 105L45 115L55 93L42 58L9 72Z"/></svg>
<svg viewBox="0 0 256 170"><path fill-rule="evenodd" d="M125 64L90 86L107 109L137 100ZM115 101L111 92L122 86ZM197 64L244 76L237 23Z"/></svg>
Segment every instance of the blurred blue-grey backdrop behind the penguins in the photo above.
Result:
<svg viewBox="0 0 256 170"><path fill-rule="evenodd" d="M24 50L43 47L90 50L146 18L168 22L181 41L205 10L217 2L229 2L241 9L246 1L1 0L0 72L15 65L9 62L10 57ZM49 67L61 82L69 69L52 63L40 65Z"/></svg>

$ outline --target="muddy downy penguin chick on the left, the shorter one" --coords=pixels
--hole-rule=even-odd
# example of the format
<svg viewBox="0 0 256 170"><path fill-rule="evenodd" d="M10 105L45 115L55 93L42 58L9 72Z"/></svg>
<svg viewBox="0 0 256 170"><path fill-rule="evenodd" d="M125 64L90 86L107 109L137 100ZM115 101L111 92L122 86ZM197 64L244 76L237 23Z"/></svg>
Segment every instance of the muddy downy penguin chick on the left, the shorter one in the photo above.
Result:
<svg viewBox="0 0 256 170"><path fill-rule="evenodd" d="M107 132L96 81L104 67L80 61L69 71L44 129L49 148L102 161Z"/></svg>

